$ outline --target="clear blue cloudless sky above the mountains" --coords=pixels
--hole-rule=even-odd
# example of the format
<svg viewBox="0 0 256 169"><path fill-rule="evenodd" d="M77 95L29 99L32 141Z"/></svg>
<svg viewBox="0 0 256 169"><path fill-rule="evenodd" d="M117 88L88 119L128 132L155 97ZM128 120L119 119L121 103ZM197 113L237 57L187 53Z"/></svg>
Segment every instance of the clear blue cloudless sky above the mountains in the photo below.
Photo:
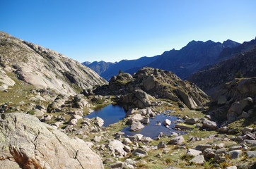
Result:
<svg viewBox="0 0 256 169"><path fill-rule="evenodd" d="M120 61L194 40L256 36L255 0L1 0L0 30L76 61Z"/></svg>

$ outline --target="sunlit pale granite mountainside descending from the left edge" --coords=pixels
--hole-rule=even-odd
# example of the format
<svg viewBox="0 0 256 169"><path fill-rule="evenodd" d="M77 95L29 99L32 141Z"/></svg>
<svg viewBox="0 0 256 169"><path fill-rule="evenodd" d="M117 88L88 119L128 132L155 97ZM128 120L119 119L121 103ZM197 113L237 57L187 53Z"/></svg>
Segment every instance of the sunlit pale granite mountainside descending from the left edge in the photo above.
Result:
<svg viewBox="0 0 256 169"><path fill-rule="evenodd" d="M13 73L35 87L69 95L106 83L81 63L5 32L0 32L0 72L1 90L15 84Z"/></svg>

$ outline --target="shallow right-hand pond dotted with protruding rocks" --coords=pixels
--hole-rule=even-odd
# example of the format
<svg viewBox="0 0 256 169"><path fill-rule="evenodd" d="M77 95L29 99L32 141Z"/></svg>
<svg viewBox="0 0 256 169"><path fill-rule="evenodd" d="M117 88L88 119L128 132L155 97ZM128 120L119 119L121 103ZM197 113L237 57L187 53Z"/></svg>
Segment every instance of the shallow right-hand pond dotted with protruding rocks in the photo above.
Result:
<svg viewBox="0 0 256 169"><path fill-rule="evenodd" d="M173 116L173 115L164 115L164 114L156 115L155 118L153 118L153 119L150 118L149 125L144 125L145 127L143 129L139 130L138 132L129 131L130 127L124 127L122 132L125 133L124 135L129 135L129 136L133 136L133 135L139 133L139 134L142 134L146 137L151 137L152 139L155 139L156 137L158 137L160 132L163 132L163 134L168 134L168 135L171 134L170 132L177 132L177 133L180 133L180 134L185 134L185 132L171 129L172 127L175 126L174 123L171 123L170 127L166 128L163 125L163 120L165 120L165 119L169 119L172 122L175 121L175 120L178 120L178 118L176 116ZM161 122L162 124L161 125L156 125L156 123L158 123L158 122Z"/></svg>

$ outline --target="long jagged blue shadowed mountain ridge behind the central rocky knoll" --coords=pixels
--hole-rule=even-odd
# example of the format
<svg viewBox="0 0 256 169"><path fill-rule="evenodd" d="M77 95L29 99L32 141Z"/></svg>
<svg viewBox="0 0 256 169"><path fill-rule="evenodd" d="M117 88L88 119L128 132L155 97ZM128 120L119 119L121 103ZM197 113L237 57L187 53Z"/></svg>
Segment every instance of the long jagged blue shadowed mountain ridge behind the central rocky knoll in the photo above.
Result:
<svg viewBox="0 0 256 169"><path fill-rule="evenodd" d="M212 41L192 41L180 50L173 49L165 51L159 56L142 57L137 60L122 60L107 68L107 70L100 73L100 75L105 79L110 80L113 75L117 75L119 70L133 74L140 68L149 66L151 68L172 71L184 79L200 68L203 68L205 65L219 61L219 54L223 49L232 49L238 45L239 43L231 40L227 40L222 44L220 42ZM100 66L100 64L97 66ZM97 70L98 68L92 67L92 69Z"/></svg>

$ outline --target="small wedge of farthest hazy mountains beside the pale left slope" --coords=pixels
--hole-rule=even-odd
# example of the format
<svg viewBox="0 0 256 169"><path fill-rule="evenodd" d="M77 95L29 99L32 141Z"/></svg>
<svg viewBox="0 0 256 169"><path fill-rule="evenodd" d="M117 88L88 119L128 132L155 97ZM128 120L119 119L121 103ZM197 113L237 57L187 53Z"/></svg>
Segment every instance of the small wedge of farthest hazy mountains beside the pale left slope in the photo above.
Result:
<svg viewBox="0 0 256 169"><path fill-rule="evenodd" d="M95 73L98 73L100 75L101 73L105 72L107 69L109 69L112 65L115 65L115 63L112 62L105 62L105 61L94 61L93 63L90 62L83 62L83 65L86 65L88 68L91 68L95 71Z"/></svg>

